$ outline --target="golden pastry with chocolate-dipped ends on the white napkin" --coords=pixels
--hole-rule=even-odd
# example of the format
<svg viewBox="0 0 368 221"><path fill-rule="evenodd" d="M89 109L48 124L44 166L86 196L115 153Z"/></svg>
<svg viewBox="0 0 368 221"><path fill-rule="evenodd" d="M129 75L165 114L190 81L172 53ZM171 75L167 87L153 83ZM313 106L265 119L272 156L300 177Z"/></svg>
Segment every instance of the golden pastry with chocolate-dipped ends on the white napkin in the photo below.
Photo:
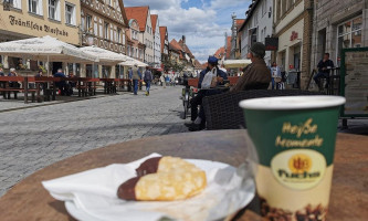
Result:
<svg viewBox="0 0 368 221"><path fill-rule="evenodd" d="M137 168L138 177L120 185L124 200L168 201L190 198L207 186L206 172L175 157L151 158Z"/></svg>

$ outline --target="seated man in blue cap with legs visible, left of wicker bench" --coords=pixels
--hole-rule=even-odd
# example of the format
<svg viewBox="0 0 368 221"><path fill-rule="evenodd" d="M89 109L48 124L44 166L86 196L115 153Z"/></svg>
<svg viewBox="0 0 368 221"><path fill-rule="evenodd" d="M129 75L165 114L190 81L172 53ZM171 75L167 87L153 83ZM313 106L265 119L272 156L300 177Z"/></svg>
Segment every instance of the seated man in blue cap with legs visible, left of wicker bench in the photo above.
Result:
<svg viewBox="0 0 368 221"><path fill-rule="evenodd" d="M200 108L200 113L198 114L198 105L202 104L202 99L204 96L211 96L215 94L220 94L220 90L208 90L203 88L203 80L207 74L215 73L215 77L211 81L211 87L215 87L219 83L222 83L223 80L228 80L227 73L221 71L218 66L218 59L215 56L210 56L208 59L208 66L206 70L201 71L199 81L198 81L198 88L202 88L198 92L197 96L194 96L190 101L191 105L191 122L190 124L186 124L189 127L190 131L196 131L200 129L204 129L206 127L206 118L204 118L204 109Z"/></svg>

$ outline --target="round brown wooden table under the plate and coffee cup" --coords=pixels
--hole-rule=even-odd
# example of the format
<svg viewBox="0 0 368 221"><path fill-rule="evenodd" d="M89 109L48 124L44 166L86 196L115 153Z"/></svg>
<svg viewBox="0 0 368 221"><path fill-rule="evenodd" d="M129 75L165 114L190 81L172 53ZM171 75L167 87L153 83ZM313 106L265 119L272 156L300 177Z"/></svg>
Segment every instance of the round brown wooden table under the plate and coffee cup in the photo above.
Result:
<svg viewBox="0 0 368 221"><path fill-rule="evenodd" d="M64 202L53 199L42 187L42 180L129 162L151 152L222 161L236 167L246 157L244 140L244 130L209 130L148 137L90 150L53 164L15 185L0 198L1 220L74 220ZM368 137L338 134L327 220L368 219L367 173ZM236 220L261 221L249 210Z"/></svg>

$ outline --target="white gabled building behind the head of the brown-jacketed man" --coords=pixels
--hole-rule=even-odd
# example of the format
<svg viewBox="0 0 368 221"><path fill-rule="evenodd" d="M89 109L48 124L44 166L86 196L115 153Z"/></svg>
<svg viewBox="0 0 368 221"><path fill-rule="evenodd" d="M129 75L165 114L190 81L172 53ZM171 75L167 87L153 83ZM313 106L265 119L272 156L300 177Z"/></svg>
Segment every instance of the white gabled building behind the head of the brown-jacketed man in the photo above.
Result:
<svg viewBox="0 0 368 221"><path fill-rule="evenodd" d="M273 1L257 0L250 4L245 12L246 19L239 32L241 35L241 57L246 59L246 54L252 43L265 43L265 38L272 36L273 25ZM266 51L264 61L271 65L271 51Z"/></svg>

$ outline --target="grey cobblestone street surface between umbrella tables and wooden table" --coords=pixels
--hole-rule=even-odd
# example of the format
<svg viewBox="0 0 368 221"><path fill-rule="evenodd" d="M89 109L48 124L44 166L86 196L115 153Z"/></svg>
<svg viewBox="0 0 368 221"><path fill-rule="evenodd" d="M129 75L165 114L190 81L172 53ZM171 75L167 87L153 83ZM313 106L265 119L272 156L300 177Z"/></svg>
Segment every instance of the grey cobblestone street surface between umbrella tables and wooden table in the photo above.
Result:
<svg viewBox="0 0 368 221"><path fill-rule="evenodd" d="M0 113L0 197L34 171L80 152L187 131L180 92L181 86L153 87L149 97L139 92Z"/></svg>

